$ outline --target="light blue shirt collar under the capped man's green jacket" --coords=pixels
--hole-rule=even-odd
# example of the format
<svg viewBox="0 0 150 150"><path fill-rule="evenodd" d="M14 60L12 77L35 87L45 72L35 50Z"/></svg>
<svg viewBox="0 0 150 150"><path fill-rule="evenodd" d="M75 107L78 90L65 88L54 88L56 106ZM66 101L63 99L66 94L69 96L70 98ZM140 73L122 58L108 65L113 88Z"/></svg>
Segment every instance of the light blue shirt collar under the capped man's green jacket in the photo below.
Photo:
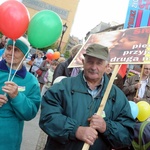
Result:
<svg viewBox="0 0 150 150"><path fill-rule="evenodd" d="M89 85L88 85L88 82L83 74L83 79L84 81L86 82L86 85L87 85L87 88L88 88L88 92L93 96L93 97L96 97L102 90L102 86L103 86L103 83L104 83L104 76L102 77L102 80L101 82L99 83L99 85L97 85L97 87L94 89L94 90L91 90Z"/></svg>

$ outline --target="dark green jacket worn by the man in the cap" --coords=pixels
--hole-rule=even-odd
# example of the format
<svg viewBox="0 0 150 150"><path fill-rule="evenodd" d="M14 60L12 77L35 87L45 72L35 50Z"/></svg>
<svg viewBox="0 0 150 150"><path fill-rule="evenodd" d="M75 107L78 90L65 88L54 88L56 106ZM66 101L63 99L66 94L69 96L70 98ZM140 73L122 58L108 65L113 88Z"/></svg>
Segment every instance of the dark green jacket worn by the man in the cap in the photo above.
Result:
<svg viewBox="0 0 150 150"><path fill-rule="evenodd" d="M43 96L40 127L49 137L46 150L81 150L83 142L75 137L79 126L97 112L108 84L104 75L101 93L93 99L88 93L83 73L54 84ZM130 106L123 92L113 85L105 109L107 130L99 133L90 150L110 150L131 144L133 126Z"/></svg>

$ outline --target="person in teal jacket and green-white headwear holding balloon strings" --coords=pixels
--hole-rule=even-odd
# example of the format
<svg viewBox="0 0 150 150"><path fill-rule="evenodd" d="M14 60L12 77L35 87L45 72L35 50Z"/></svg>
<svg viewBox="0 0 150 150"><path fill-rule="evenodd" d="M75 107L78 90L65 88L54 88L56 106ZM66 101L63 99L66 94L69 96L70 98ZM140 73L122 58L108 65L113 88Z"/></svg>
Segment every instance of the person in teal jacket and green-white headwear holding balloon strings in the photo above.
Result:
<svg viewBox="0 0 150 150"><path fill-rule="evenodd" d="M39 110L38 81L22 61L29 49L24 37L15 45L9 39L0 61L0 150L20 150L24 121L33 119Z"/></svg>

